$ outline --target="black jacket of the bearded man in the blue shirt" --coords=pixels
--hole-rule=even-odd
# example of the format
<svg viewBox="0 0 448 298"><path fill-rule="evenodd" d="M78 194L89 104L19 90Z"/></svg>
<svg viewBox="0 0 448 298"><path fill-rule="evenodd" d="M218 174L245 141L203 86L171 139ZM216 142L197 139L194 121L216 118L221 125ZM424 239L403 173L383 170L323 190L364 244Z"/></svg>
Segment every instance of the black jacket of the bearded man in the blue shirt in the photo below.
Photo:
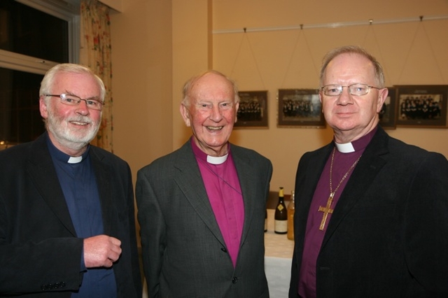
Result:
<svg viewBox="0 0 448 298"><path fill-rule="evenodd" d="M83 281L83 239L76 238L45 137L0 152L0 296L70 297ZM129 166L94 146L89 154L104 234L122 241L113 265L118 297L141 297Z"/></svg>

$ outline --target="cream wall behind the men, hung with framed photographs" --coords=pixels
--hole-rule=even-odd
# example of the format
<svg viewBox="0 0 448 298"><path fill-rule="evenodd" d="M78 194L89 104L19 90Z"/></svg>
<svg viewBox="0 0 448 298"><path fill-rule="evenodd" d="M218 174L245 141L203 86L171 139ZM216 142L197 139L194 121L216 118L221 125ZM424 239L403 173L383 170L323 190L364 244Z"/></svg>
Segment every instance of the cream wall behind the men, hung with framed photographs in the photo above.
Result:
<svg viewBox="0 0 448 298"><path fill-rule="evenodd" d="M318 86L321 57L330 48L363 45L386 71L387 85L448 85L447 0L123 0L111 15L113 139L134 179L137 170L179 148L190 135L179 114L181 87L214 68L240 90L268 90L269 129L237 129L231 141L272 160L271 190L294 186L300 156L331 140L331 130L276 127L276 92ZM423 22L375 24L423 15ZM307 25L374 20L372 25L306 29ZM212 34L223 29L290 27ZM391 136L448 157L448 129L398 127Z"/></svg>

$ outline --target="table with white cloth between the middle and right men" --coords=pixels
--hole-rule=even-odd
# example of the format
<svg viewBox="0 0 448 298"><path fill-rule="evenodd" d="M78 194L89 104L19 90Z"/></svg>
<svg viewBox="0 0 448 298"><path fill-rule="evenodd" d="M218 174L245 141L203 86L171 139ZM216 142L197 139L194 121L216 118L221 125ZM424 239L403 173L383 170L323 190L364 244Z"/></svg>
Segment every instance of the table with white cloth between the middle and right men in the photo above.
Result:
<svg viewBox="0 0 448 298"><path fill-rule="evenodd" d="M265 272L269 296L288 297L293 258L294 241L286 234L274 233L274 209L267 209L267 232L265 232Z"/></svg>

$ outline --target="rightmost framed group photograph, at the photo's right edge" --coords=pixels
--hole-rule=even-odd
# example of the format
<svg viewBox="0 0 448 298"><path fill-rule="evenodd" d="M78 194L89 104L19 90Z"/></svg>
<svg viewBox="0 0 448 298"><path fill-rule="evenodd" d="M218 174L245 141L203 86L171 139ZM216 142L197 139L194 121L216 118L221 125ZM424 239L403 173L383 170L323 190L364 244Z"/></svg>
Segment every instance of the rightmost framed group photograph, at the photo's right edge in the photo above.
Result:
<svg viewBox="0 0 448 298"><path fill-rule="evenodd" d="M395 85L397 126L447 128L448 85Z"/></svg>

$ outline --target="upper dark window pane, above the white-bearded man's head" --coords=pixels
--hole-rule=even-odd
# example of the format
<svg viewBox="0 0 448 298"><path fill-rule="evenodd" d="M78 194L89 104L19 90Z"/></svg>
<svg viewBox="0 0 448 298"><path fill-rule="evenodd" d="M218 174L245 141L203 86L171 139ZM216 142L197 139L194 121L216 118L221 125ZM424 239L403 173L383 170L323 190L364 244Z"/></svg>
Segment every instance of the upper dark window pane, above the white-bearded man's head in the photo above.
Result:
<svg viewBox="0 0 448 298"><path fill-rule="evenodd" d="M69 62L68 22L14 0L0 1L0 49Z"/></svg>

